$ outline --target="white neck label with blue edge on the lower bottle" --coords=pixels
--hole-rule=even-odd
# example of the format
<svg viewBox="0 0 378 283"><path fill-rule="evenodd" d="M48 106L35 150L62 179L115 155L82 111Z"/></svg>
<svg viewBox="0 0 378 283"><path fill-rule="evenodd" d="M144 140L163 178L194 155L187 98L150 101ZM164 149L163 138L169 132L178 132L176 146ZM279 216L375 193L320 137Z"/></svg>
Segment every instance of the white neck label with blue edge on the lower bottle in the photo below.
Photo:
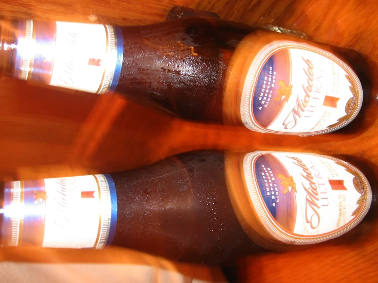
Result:
<svg viewBox="0 0 378 283"><path fill-rule="evenodd" d="M103 248L117 201L109 175L6 183L2 241L10 246Z"/></svg>

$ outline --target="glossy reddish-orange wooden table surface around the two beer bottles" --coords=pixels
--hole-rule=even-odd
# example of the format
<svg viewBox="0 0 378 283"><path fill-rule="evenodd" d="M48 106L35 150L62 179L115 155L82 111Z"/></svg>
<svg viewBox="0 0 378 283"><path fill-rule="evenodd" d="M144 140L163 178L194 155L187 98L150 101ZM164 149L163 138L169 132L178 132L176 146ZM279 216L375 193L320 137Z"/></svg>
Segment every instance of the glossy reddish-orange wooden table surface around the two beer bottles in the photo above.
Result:
<svg viewBox="0 0 378 283"><path fill-rule="evenodd" d="M374 0L1 0L0 13L39 20L143 25L164 21L175 5L213 11L250 25L273 23L365 55L372 88L367 93L368 107L355 122L361 129L306 138L266 134L264 143L256 144L252 133L183 122L118 95L58 91L2 77L0 179L127 170L179 152L208 148L351 155L366 162L372 176L377 175L378 2ZM355 241L251 256L240 262L240 281L377 281L374 214L356 228Z"/></svg>

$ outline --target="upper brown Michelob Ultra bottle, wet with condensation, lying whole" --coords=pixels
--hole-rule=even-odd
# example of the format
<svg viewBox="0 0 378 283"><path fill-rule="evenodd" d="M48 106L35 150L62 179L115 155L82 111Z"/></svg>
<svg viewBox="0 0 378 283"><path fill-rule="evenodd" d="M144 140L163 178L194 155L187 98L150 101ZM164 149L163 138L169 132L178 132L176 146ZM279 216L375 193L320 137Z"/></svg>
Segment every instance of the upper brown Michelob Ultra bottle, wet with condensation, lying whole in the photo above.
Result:
<svg viewBox="0 0 378 283"><path fill-rule="evenodd" d="M347 125L363 101L357 73L367 71L357 53L213 13L173 8L166 22L135 27L5 19L0 26L5 75L117 91L188 120L313 135Z"/></svg>

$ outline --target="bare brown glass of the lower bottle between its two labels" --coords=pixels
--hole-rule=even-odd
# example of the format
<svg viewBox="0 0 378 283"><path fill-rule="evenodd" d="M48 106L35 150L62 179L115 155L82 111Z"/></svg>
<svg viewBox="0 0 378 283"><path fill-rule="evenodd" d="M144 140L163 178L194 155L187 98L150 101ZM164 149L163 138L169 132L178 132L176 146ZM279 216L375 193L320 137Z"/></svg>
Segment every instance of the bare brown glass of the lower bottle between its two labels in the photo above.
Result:
<svg viewBox="0 0 378 283"><path fill-rule="evenodd" d="M234 263L261 251L235 216L224 163L223 153L199 152L112 175L124 201L119 218L127 219L118 224L113 243L208 264Z"/></svg>

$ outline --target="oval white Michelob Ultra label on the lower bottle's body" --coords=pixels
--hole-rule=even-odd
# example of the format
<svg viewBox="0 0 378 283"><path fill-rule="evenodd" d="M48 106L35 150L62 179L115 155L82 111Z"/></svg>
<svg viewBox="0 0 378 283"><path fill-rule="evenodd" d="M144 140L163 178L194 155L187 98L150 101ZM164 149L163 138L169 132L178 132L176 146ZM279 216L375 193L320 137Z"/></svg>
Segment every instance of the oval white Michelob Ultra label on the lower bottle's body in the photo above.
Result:
<svg viewBox="0 0 378 283"><path fill-rule="evenodd" d="M285 243L338 237L362 220L371 202L365 176L333 157L249 153L244 157L244 176L257 217Z"/></svg>

